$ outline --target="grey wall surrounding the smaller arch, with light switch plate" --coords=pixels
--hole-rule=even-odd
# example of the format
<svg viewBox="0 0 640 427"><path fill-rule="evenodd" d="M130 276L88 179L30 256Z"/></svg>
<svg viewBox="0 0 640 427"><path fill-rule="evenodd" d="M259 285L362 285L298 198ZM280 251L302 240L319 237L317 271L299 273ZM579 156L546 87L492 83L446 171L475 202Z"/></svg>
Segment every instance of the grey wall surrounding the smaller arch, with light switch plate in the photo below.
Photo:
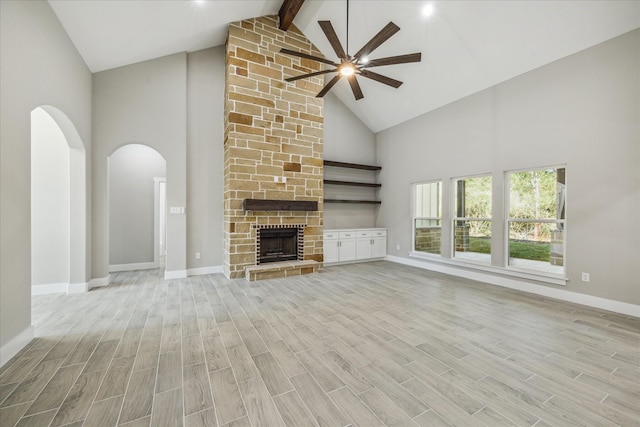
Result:
<svg viewBox="0 0 640 427"><path fill-rule="evenodd" d="M108 157L138 143L167 161L167 206L187 206L187 55L93 75L93 277L108 277ZM185 214L167 215L166 271L186 275Z"/></svg>

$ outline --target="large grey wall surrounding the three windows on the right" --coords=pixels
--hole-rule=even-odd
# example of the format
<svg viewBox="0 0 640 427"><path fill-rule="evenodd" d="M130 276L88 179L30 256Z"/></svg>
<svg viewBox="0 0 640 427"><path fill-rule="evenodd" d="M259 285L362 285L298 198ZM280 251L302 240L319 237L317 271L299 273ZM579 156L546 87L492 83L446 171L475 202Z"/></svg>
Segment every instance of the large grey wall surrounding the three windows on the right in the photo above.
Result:
<svg viewBox="0 0 640 427"><path fill-rule="evenodd" d="M446 215L452 178L491 173L493 238L503 239L504 172L566 164L563 290L639 305L639 122L635 30L380 132L389 254L409 258L411 183L442 179Z"/></svg>

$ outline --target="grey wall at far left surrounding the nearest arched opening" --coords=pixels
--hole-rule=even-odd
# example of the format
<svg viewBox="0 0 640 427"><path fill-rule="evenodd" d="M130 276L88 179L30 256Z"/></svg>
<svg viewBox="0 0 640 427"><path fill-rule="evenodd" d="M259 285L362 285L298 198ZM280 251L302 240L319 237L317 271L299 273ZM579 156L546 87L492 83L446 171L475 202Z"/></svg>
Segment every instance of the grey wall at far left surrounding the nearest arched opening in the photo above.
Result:
<svg viewBox="0 0 640 427"><path fill-rule="evenodd" d="M26 344L16 340L26 339L31 325L31 111L63 111L90 153L91 72L45 1L0 2L0 51L2 364L9 347Z"/></svg>

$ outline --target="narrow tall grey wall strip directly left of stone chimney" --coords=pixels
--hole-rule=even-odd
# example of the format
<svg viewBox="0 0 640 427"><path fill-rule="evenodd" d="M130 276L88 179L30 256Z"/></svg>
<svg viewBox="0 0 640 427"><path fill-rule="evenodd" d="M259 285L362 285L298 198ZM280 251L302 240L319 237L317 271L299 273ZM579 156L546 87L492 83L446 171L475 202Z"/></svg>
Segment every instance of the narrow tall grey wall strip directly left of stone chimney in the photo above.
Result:
<svg viewBox="0 0 640 427"><path fill-rule="evenodd" d="M224 78L224 46L187 55L189 269L222 266Z"/></svg>

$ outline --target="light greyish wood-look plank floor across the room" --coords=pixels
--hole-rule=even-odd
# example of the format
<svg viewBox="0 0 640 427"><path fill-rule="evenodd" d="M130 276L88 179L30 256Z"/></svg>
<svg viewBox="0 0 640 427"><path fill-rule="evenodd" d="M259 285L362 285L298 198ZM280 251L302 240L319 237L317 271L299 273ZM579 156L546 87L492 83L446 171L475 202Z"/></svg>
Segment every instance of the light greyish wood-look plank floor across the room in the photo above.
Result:
<svg viewBox="0 0 640 427"><path fill-rule="evenodd" d="M0 425L637 426L640 321L390 262L33 298Z"/></svg>

